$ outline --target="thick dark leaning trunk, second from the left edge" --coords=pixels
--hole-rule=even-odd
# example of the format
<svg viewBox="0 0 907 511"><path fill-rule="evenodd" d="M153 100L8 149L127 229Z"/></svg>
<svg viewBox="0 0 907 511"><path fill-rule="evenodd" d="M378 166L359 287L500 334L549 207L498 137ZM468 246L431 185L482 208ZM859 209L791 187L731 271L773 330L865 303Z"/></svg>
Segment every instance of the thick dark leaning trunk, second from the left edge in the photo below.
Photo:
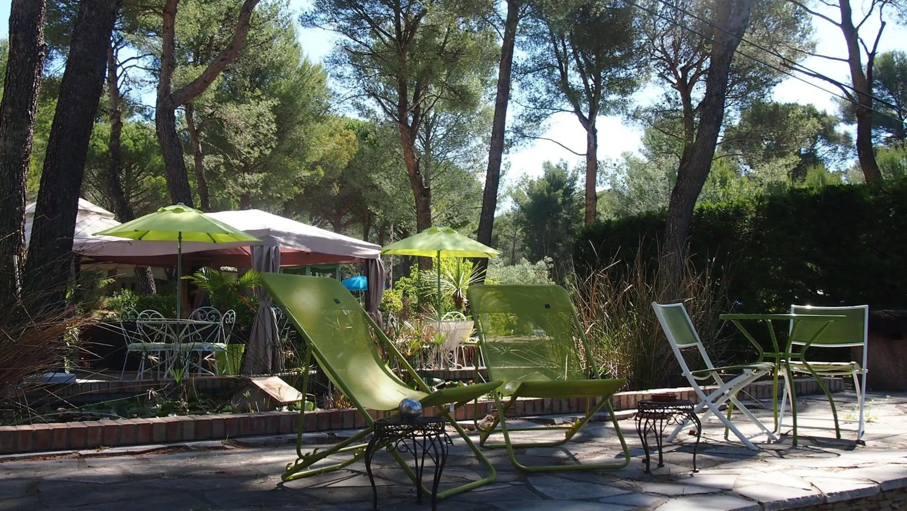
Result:
<svg viewBox="0 0 907 511"><path fill-rule="evenodd" d="M25 290L63 305L73 275L73 231L94 115L120 0L83 0L44 157L25 266ZM48 310L49 311L49 310Z"/></svg>

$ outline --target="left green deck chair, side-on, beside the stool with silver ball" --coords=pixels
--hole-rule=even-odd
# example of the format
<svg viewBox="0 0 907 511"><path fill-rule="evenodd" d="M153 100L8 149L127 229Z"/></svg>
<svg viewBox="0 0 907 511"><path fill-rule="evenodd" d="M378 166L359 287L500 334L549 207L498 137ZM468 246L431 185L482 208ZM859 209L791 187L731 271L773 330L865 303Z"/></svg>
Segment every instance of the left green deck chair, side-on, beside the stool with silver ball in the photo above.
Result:
<svg viewBox="0 0 907 511"><path fill-rule="evenodd" d="M306 412L305 407L302 407L303 409L299 412L297 436L298 458L295 463L288 465L287 471L281 476L284 481L324 474L347 467L361 459L365 455L366 448L363 441L372 433L375 422L368 415L367 410L396 410L403 398L418 399L425 408L438 407L439 411L436 416L448 419L448 423L460 433L463 441L473 449L479 462L489 472L488 477L439 493L439 499L494 481L496 478L494 467L466 435L463 427L460 427L450 417L451 408L447 406L453 405L455 408L492 392L494 388L501 385L500 381L444 388L432 392L422 378L415 373L412 366L400 355L394 343L385 337L384 332L375 325L375 322L366 314L353 295L338 280L262 273L261 283L268 290L271 298L287 313L287 318L293 322L299 334L306 340L306 369L311 366L314 356L318 366L325 371L327 378L343 391L346 398L353 402L359 413L366 419L366 428L356 435L327 449L315 449L303 453L302 435ZM387 367L378 354L369 327L372 332L375 332L384 349L387 349L392 356L399 360L415 384L422 390L410 388ZM302 386L302 393L305 396L308 390L308 370L303 377ZM391 452L406 474L415 481L415 474L403 457L395 450ZM326 457L333 457L340 453L345 453L349 457L333 465L313 467ZM431 495L431 491L425 486L422 487L422 491L425 495Z"/></svg>

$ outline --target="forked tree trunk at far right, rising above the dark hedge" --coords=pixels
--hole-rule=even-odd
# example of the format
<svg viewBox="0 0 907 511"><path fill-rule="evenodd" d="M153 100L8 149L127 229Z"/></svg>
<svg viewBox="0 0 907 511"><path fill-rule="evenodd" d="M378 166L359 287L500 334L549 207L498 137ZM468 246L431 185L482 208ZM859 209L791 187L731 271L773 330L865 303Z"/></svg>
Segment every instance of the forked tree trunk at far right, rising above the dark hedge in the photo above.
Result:
<svg viewBox="0 0 907 511"><path fill-rule="evenodd" d="M844 33L844 41L847 43L847 64L850 66L851 83L856 92L856 155L866 182L873 182L882 179L882 172L879 171L879 163L875 161L875 148L873 147L872 75L876 46L873 45L871 51L866 50L869 55L866 70L863 72L860 34L853 26L850 0L840 0L838 5L841 8L841 32ZM883 28L884 25L879 28L880 36ZM878 40L876 40L876 44L878 44Z"/></svg>

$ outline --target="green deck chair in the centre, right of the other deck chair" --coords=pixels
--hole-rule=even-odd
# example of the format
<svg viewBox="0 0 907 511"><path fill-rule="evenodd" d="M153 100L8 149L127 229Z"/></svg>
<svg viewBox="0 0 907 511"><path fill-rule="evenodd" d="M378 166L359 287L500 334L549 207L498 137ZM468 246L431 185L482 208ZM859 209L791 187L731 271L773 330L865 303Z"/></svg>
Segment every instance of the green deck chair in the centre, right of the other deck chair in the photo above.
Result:
<svg viewBox="0 0 907 511"><path fill-rule="evenodd" d="M507 449L514 467L533 472L542 470L579 470L623 468L629 464L629 449L620 432L611 396L623 387L623 379L597 379L591 351L580 320L567 291L560 286L471 286L467 292L479 334L479 346L493 380L503 386L495 393L497 417L482 428L479 445ZM509 397L504 402L503 397ZM552 441L514 442L513 431L550 431L552 427L509 427L507 412L519 398L586 398L586 415L562 426L564 437ZM600 398L596 404L593 398ZM623 458L610 464L522 465L514 449L557 447L571 440L601 408L608 408L617 431ZM478 427L478 425L476 425ZM488 437L499 430L503 443L489 443Z"/></svg>

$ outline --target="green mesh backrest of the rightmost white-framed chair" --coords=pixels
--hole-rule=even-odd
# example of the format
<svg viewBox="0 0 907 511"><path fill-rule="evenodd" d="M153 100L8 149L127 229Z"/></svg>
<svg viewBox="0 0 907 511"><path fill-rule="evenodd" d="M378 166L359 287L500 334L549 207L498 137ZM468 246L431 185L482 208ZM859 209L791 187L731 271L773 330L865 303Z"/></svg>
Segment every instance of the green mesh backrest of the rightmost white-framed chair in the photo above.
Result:
<svg viewBox="0 0 907 511"><path fill-rule="evenodd" d="M817 348L844 348L849 346L863 346L866 342L867 327L869 322L869 306L858 305L853 307L813 307L810 305L792 305L792 314L821 314L846 316L846 319L837 319L819 334L813 344ZM793 321L791 322L793 326ZM803 345L812 339L816 330L824 327L821 321L799 321L796 329L791 331L791 342Z"/></svg>

